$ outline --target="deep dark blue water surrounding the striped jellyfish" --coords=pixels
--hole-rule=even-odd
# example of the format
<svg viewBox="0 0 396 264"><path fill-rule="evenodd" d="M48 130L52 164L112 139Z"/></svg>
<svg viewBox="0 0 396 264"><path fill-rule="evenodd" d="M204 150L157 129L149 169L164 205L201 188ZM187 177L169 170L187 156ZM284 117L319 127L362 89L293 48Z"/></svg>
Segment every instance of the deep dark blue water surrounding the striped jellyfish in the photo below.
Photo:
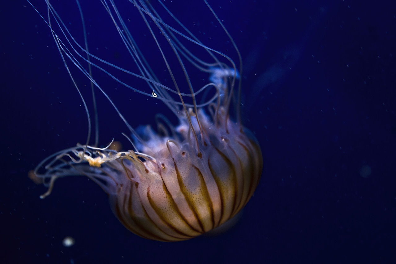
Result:
<svg viewBox="0 0 396 264"><path fill-rule="evenodd" d="M95 3L88 13L106 16L99 1L86 2ZM3 263L395 260L396 8L393 1L364 2L211 1L244 60L244 124L261 144L264 170L237 226L178 243L127 231L107 195L84 177L60 179L39 199L45 188L27 172L51 153L84 143L86 115L48 26L26 1L2 4ZM33 4L46 16L44 1ZM197 24L188 27L203 42L237 60L203 2L168 5L184 23ZM76 12L70 17L78 16L70 6ZM93 26L105 32L111 25ZM94 37L91 50L101 46ZM124 59L120 45L116 40L108 51ZM105 88L133 127L168 112L125 88ZM125 142L120 133L128 129L98 98L100 143ZM371 169L367 178L362 168ZM66 236L76 239L73 247L63 247Z"/></svg>

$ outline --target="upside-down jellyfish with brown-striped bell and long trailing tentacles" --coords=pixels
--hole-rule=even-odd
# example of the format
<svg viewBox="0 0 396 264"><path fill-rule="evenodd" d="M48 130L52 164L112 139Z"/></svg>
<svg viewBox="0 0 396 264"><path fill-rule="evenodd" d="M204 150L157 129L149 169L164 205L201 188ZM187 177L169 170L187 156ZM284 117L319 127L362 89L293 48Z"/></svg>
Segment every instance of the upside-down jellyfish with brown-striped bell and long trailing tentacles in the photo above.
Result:
<svg viewBox="0 0 396 264"><path fill-rule="evenodd" d="M226 54L198 39L161 0L156 8L150 1L130 0L131 6L122 9L113 0L101 0L101 8L112 21L111 28L118 33L118 41L128 51L124 55L130 57L135 71L89 51L84 14L78 0L76 8L82 21L84 44L73 36L70 23L62 19L49 0L45 2L48 19L44 20L85 107L88 137L85 144L54 153L32 171L29 177L48 187L40 197L51 193L58 178L86 176L108 194L112 211L128 230L157 241L197 237L240 212L259 184L263 157L254 134L241 123L241 55L209 3L203 0L206 10L238 54L238 68ZM158 8L172 25L162 19ZM132 34L135 28L123 17L124 12L134 12L133 17L142 19L147 35L160 54L157 59L165 65L168 82L152 70L153 65L145 55L151 51L138 44ZM206 56L198 57L191 47L204 51ZM171 60L176 61L181 74L175 73L177 69ZM113 143L98 147L97 126L95 143L89 144L93 130L91 116L72 69L78 69L91 83L95 124L94 91L107 98L128 127L130 135L123 135L128 138L131 149L114 149ZM93 69L127 88L126 92L136 92L133 99L142 96L139 93L163 103L178 124L159 114L157 130L149 125L133 129L94 78ZM197 88L192 77L201 79L202 74L208 76L209 83ZM132 79L140 82L130 81ZM145 88L141 88L143 84Z"/></svg>

